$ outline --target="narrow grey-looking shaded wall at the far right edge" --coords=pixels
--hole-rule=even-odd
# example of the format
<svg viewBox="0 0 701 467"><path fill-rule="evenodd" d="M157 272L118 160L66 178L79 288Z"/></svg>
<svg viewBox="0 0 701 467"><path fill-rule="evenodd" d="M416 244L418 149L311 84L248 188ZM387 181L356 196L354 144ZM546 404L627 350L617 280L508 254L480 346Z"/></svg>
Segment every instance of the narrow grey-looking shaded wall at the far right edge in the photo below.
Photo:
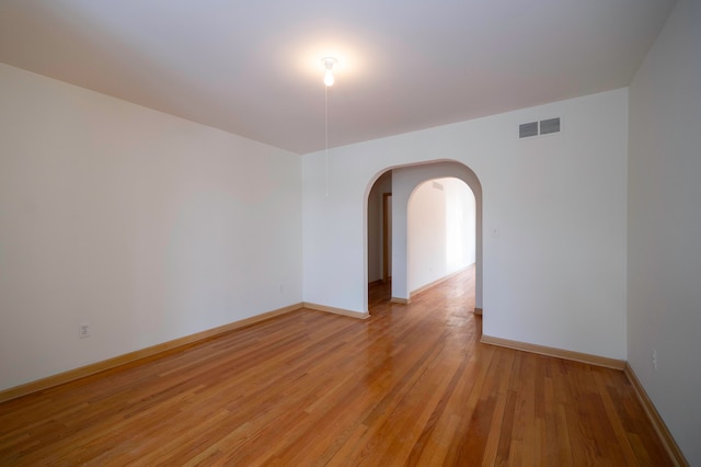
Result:
<svg viewBox="0 0 701 467"><path fill-rule="evenodd" d="M628 358L691 465L701 465L700 47L701 3L681 0L630 88Z"/></svg>

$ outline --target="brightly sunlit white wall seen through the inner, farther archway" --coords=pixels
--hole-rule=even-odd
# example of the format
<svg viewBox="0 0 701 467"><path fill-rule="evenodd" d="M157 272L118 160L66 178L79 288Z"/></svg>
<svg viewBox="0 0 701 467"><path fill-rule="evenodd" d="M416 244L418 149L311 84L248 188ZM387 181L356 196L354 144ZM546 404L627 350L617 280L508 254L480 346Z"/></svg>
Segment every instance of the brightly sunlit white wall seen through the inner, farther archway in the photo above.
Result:
<svg viewBox="0 0 701 467"><path fill-rule="evenodd" d="M475 261L474 194L458 179L422 183L409 200L409 289L416 291Z"/></svg>

